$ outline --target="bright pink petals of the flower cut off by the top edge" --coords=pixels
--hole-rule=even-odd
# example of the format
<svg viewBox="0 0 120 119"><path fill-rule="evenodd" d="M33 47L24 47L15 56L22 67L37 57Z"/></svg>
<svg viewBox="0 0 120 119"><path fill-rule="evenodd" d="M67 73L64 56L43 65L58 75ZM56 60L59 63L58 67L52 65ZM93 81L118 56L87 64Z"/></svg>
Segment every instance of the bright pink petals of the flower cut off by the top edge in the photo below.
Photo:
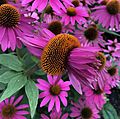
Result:
<svg viewBox="0 0 120 119"><path fill-rule="evenodd" d="M70 4L69 0L62 0L62 1ZM45 9L48 3L55 10L60 10L60 8L64 8L60 0L22 0L23 6L31 2L32 2L31 11L38 9L38 12L41 12Z"/></svg>

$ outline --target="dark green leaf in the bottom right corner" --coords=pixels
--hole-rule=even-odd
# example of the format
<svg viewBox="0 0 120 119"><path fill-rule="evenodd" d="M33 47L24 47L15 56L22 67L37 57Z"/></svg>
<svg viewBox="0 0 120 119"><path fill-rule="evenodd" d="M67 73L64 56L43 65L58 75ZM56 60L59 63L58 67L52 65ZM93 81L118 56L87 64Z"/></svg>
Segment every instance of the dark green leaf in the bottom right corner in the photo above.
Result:
<svg viewBox="0 0 120 119"><path fill-rule="evenodd" d="M104 105L102 114L104 119L118 119L115 108L109 102Z"/></svg>

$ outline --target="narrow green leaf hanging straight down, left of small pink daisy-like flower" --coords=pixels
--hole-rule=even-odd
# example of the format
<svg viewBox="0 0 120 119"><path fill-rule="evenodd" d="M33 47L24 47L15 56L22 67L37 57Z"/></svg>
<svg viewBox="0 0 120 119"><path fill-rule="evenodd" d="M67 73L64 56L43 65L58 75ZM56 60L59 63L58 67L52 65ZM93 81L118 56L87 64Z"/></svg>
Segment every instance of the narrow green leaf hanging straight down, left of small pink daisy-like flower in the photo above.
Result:
<svg viewBox="0 0 120 119"><path fill-rule="evenodd" d="M32 80L27 81L27 84L25 86L25 92L29 100L31 118L33 118L36 112L36 108L38 104L38 97L39 97L39 91L37 87L35 86L34 81Z"/></svg>

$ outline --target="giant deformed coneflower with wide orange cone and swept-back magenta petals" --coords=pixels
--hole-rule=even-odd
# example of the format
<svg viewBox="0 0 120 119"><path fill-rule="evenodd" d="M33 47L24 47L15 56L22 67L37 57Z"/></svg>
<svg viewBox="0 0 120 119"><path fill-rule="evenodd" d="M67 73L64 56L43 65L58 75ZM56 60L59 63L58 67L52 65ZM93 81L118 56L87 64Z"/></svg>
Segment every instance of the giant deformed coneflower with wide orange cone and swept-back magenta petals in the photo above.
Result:
<svg viewBox="0 0 120 119"><path fill-rule="evenodd" d="M81 47L79 40L70 34L55 36L47 29L43 31L41 40L25 38L23 42L31 53L41 57L41 67L47 74L61 75L67 71L73 87L82 94L81 85L89 85L89 79L96 75L99 48Z"/></svg>

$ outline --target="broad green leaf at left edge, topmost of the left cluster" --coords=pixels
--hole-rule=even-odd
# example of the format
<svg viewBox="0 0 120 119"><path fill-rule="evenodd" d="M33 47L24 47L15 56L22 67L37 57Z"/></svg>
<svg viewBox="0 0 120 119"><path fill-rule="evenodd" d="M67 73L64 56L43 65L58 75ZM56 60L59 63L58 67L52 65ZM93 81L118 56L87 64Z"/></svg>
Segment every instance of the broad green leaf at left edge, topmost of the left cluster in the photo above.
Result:
<svg viewBox="0 0 120 119"><path fill-rule="evenodd" d="M12 54L0 54L0 64L15 71L23 70L22 63Z"/></svg>

